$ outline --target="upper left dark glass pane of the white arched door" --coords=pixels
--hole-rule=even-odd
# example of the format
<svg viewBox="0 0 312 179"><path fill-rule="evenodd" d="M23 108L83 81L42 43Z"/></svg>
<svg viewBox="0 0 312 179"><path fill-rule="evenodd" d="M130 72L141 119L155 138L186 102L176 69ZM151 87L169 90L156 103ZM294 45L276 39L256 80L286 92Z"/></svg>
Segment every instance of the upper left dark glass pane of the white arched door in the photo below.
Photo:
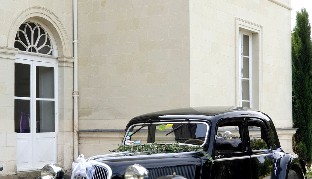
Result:
<svg viewBox="0 0 312 179"><path fill-rule="evenodd" d="M15 63L14 96L30 97L30 65Z"/></svg>

